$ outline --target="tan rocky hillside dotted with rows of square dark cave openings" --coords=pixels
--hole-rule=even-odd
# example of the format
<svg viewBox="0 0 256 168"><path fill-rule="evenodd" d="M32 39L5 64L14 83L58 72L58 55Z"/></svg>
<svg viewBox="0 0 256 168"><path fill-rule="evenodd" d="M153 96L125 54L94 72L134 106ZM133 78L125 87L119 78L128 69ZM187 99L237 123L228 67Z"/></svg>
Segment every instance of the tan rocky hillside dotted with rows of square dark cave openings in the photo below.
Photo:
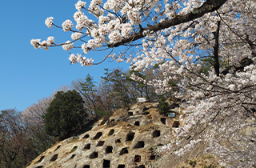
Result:
<svg viewBox="0 0 256 168"><path fill-rule="evenodd" d="M175 118L158 113L157 103L141 102L130 110L117 110L95 123L92 130L67 138L35 158L29 166L94 168L152 167L158 155L155 149L170 142L174 127L182 125ZM109 124L108 124L109 123Z"/></svg>

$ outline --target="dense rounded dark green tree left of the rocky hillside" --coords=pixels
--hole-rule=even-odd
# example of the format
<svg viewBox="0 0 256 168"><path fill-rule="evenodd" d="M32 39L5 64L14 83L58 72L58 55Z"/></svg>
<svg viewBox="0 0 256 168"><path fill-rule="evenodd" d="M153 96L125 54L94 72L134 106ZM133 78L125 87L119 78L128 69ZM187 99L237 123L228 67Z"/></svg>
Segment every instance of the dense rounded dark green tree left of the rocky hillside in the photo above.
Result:
<svg viewBox="0 0 256 168"><path fill-rule="evenodd" d="M58 91L50 103L45 119L46 133L60 139L70 137L86 124L87 113L81 95L75 90Z"/></svg>

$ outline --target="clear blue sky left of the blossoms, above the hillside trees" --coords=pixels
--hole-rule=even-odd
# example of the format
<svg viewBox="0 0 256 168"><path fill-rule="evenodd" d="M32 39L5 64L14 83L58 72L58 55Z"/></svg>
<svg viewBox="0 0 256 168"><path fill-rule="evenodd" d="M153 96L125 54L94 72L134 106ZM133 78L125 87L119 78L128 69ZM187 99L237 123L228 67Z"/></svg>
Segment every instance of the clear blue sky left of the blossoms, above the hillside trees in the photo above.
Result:
<svg viewBox="0 0 256 168"><path fill-rule="evenodd" d="M70 66L69 53L62 50L62 47L35 50L30 45L32 38L46 40L48 36L54 36L56 43L70 40L69 33L54 27L47 28L45 20L52 16L54 23L59 26L66 19L73 21L76 2L78 0L1 2L0 110L24 110L38 102L38 99L49 97L60 86L69 85L77 78L86 78L88 73L94 76L95 81L99 81L106 67L128 68L128 65L116 62L104 62L90 67ZM104 54L94 52L89 56L95 60L103 58Z"/></svg>

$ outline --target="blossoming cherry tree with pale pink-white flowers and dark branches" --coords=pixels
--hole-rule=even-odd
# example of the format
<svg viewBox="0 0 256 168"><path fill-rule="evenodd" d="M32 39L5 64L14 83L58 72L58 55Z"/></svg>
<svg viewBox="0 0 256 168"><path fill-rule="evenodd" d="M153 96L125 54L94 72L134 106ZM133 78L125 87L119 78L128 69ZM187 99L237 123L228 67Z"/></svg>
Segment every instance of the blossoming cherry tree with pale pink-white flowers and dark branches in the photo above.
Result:
<svg viewBox="0 0 256 168"><path fill-rule="evenodd" d="M32 39L34 48L81 48L69 59L82 66L101 63L85 55L102 50L109 50L102 62L126 61L133 70L154 66L162 75L146 84L158 94L178 87L174 95L185 100L186 125L166 150L185 154L204 142L224 166L256 166L254 0L92 0L75 8L75 26L71 20L57 26L52 17L45 22L70 32L70 40ZM177 86L170 86L173 80Z"/></svg>

